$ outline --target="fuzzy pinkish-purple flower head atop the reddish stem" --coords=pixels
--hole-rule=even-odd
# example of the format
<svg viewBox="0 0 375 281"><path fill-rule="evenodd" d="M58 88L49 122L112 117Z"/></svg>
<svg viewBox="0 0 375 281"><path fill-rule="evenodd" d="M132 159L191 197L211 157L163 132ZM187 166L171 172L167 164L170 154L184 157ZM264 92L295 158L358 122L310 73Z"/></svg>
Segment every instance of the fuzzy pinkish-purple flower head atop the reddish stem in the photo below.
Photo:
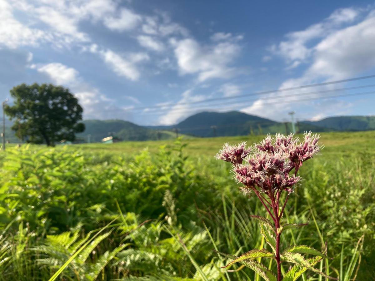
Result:
<svg viewBox="0 0 375 281"><path fill-rule="evenodd" d="M300 180L297 171L303 161L320 151L318 140L319 135L311 132L305 133L303 142L293 134L267 135L263 141L249 148L246 148L245 142L237 146L227 143L216 158L233 164L234 177L243 184L241 189L245 194L252 190L269 196L282 190L290 193ZM293 169L294 173L291 173Z"/></svg>

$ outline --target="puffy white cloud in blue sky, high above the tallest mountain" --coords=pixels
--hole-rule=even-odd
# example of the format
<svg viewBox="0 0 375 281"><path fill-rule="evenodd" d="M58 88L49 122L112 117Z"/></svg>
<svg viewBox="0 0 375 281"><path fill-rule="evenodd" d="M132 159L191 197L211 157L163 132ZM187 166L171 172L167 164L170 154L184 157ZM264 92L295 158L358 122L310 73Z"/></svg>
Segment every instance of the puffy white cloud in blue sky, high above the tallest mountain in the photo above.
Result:
<svg viewBox="0 0 375 281"><path fill-rule="evenodd" d="M212 46L201 46L193 39L172 40L174 53L181 75L198 74L200 82L210 78L229 78L234 68L229 64L239 55L236 43L221 42Z"/></svg>

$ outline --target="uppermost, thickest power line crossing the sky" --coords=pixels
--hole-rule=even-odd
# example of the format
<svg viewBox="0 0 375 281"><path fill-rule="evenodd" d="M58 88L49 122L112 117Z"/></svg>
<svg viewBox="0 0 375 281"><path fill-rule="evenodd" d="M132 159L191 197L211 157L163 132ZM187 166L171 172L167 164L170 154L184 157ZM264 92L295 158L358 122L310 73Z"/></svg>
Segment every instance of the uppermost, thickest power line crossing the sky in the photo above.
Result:
<svg viewBox="0 0 375 281"><path fill-rule="evenodd" d="M217 98L212 98L212 99L199 100L199 101L195 101L195 102L181 102L181 103L178 103L178 105L191 105L191 104L196 104L196 103L211 102L211 101L215 101L215 100L238 99L240 97L258 96L258 95L270 94L270 93L280 93L280 92L285 92L285 91L299 90L299 89L303 89L303 88L311 88L311 87L318 87L318 86L324 86L324 85L339 84L339 83L351 82L351 81L357 81L357 80L363 80L363 79L369 79L369 78L375 78L375 75L368 75L368 76L361 76L361 77L356 77L356 78L349 78L349 79L336 80L336 81L330 81L330 82L302 85L302 86L283 88L283 89L278 89L278 90L255 92L255 93L243 94L243 95L237 95L237 96L231 96L231 97L217 97ZM174 105L176 105L176 104L140 106L140 107L133 108L132 110L148 109L148 108L163 108L165 106L174 106Z"/></svg>

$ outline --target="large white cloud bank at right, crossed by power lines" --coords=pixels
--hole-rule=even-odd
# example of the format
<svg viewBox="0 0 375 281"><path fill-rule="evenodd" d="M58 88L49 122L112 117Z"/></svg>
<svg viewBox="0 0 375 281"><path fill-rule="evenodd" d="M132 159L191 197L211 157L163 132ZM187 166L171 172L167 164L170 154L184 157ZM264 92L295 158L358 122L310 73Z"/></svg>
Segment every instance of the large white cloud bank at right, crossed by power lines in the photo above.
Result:
<svg viewBox="0 0 375 281"><path fill-rule="evenodd" d="M342 16L345 14L347 16ZM301 56L296 57L302 58L306 55L309 58L310 64L300 77L288 79L279 88L284 89L323 81L346 79L375 69L375 11L369 12L362 21L353 23L358 14L359 11L341 9L338 12L332 13L330 18L323 23L312 25L312 27L294 34L295 38L304 38L300 41L303 42L300 46L306 50L306 53L300 52ZM333 21L335 24L341 22L352 22L352 24L341 28L336 26L335 29L331 28L333 26L331 25L330 29L327 30L325 25L327 25L327 22L332 24ZM318 43L313 46L306 45L308 38L317 39L318 37L321 37ZM292 60L293 57L291 55L288 56L292 63L287 69L300 64L300 60ZM327 85L316 90L333 89L335 87L338 86ZM275 99L276 101L298 100L301 99L298 94L309 91L312 90L294 90L271 94L270 96L281 97L280 99ZM290 94L296 94L296 96L283 98L283 96ZM324 93L311 94L308 98L322 97L324 95ZM328 115L348 114L353 106L352 103L340 99L324 100L322 102L280 102L279 104L267 105L269 102L270 100L257 100L253 105L242 110L249 114L279 120L280 116L287 117L287 112L295 108L305 108L306 111L310 112L311 116L315 116L317 115L316 112L320 112L320 115L316 118L321 118ZM304 114L308 114L308 112L304 112Z"/></svg>

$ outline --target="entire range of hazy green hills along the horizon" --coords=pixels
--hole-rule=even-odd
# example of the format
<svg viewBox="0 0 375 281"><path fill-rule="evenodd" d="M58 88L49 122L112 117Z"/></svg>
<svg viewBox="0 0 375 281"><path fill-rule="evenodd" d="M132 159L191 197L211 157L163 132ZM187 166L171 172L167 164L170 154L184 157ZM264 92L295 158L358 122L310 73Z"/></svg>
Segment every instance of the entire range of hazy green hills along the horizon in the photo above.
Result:
<svg viewBox="0 0 375 281"><path fill-rule="evenodd" d="M77 139L87 142L100 142L110 135L123 141L146 141L173 139L175 128L183 137L240 136L287 133L292 131L290 122L279 123L239 111L200 112L172 126L139 126L123 120L84 120L86 130L77 134ZM19 142L15 132L6 123L6 139L11 143ZM375 130L375 116L338 116L324 118L320 121L303 121L296 124L297 132L327 131L365 131ZM0 129L2 131L2 129ZM1 139L0 139L1 141Z"/></svg>

